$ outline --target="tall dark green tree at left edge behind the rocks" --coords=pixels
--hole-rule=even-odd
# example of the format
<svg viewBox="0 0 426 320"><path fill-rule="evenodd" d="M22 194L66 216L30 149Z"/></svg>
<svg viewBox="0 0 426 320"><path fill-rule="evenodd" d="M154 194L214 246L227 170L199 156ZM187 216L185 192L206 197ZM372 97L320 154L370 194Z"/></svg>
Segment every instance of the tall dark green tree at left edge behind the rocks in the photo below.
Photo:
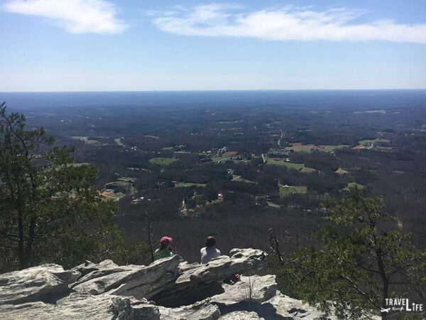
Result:
<svg viewBox="0 0 426 320"><path fill-rule="evenodd" d="M23 114L0 106L0 269L39 262L65 267L109 255L121 242L116 207L99 198L97 170L76 166Z"/></svg>

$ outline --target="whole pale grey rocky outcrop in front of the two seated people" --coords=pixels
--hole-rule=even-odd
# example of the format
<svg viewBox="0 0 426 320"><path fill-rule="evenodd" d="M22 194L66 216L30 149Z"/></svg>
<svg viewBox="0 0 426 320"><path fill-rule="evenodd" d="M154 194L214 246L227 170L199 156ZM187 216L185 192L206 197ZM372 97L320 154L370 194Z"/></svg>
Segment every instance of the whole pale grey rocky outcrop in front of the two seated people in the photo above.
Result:
<svg viewBox="0 0 426 320"><path fill-rule="evenodd" d="M275 276L256 274L265 252L234 249L207 265L181 257L148 266L111 260L63 270L41 265L0 275L1 319L320 319L319 311L277 290Z"/></svg>

